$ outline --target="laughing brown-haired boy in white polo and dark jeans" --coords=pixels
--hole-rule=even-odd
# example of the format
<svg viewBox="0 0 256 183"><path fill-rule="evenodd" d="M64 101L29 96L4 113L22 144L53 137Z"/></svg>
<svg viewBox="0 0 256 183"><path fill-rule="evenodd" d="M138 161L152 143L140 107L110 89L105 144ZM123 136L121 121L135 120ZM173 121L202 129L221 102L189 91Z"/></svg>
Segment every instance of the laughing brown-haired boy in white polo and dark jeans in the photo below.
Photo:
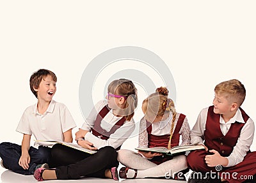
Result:
<svg viewBox="0 0 256 183"><path fill-rule="evenodd" d="M72 128L76 127L68 108L52 99L56 92L56 75L49 70L38 70L31 75L30 89L37 103L24 111L16 131L23 134L22 145L0 143L1 165L23 175L32 175L36 168L47 165L51 148L38 144L30 147L31 135L36 140L72 142Z"/></svg>

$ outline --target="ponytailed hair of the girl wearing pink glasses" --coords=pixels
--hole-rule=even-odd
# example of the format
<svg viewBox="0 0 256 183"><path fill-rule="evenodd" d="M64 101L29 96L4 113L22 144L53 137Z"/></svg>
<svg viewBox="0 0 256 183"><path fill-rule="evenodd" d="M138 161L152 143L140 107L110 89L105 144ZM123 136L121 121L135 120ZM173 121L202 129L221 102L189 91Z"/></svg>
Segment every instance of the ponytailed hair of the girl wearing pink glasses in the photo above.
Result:
<svg viewBox="0 0 256 183"><path fill-rule="evenodd" d="M108 92L125 97L124 116L127 121L131 121L138 105L137 89L132 81L124 78L113 80L108 85Z"/></svg>

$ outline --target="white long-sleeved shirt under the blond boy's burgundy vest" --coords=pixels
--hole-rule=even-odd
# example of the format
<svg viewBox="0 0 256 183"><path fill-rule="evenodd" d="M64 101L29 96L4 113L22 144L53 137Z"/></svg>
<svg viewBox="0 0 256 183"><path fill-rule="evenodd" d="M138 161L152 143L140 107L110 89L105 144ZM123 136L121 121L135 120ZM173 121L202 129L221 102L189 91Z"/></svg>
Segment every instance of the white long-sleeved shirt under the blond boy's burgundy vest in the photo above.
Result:
<svg viewBox="0 0 256 183"><path fill-rule="evenodd" d="M198 144L204 144L204 131L205 131L205 124L207 119L207 113L208 108L204 108L198 115L197 121L193 129L191 130L191 143L198 143ZM237 110L236 114L230 121L225 122L222 117L220 117L220 129L223 133L223 136L225 136L228 133L228 130L230 129L230 126L234 122L241 122L245 123L242 117L241 110ZM236 146L234 147L232 153L230 156L227 157L228 159L228 165L234 166L243 161L244 156L246 156L246 153L248 150L250 150L250 146L253 142L253 136L254 136L254 122L251 118L248 119L248 121L244 124L243 128L241 129L240 136L237 140ZM210 150L210 149L209 149Z"/></svg>

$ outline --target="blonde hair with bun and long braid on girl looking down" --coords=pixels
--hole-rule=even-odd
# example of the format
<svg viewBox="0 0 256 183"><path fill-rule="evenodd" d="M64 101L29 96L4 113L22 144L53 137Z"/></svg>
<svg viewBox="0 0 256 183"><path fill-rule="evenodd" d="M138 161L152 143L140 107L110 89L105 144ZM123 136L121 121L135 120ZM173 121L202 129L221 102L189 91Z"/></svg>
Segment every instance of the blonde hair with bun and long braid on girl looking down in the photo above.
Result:
<svg viewBox="0 0 256 183"><path fill-rule="evenodd" d="M156 92L144 99L142 107L145 109L145 117L163 116L165 113L172 112L172 127L170 129L170 140L168 142L168 149L170 149L177 112L173 100L168 98L168 93L169 91L166 87L157 88Z"/></svg>

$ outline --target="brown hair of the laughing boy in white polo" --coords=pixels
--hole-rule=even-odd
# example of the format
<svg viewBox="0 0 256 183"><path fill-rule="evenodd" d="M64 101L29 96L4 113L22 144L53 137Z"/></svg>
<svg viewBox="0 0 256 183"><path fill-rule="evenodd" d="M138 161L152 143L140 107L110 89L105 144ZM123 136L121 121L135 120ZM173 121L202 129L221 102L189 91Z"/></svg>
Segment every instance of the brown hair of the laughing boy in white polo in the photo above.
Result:
<svg viewBox="0 0 256 183"><path fill-rule="evenodd" d="M37 98L37 92L34 90L34 88L38 89L40 82L42 81L43 78L47 77L47 75L50 75L52 77L52 80L54 80L54 82L57 82L56 75L52 71L44 70L44 69L35 71L29 79L30 89L33 92L33 94L36 96L36 98Z"/></svg>

